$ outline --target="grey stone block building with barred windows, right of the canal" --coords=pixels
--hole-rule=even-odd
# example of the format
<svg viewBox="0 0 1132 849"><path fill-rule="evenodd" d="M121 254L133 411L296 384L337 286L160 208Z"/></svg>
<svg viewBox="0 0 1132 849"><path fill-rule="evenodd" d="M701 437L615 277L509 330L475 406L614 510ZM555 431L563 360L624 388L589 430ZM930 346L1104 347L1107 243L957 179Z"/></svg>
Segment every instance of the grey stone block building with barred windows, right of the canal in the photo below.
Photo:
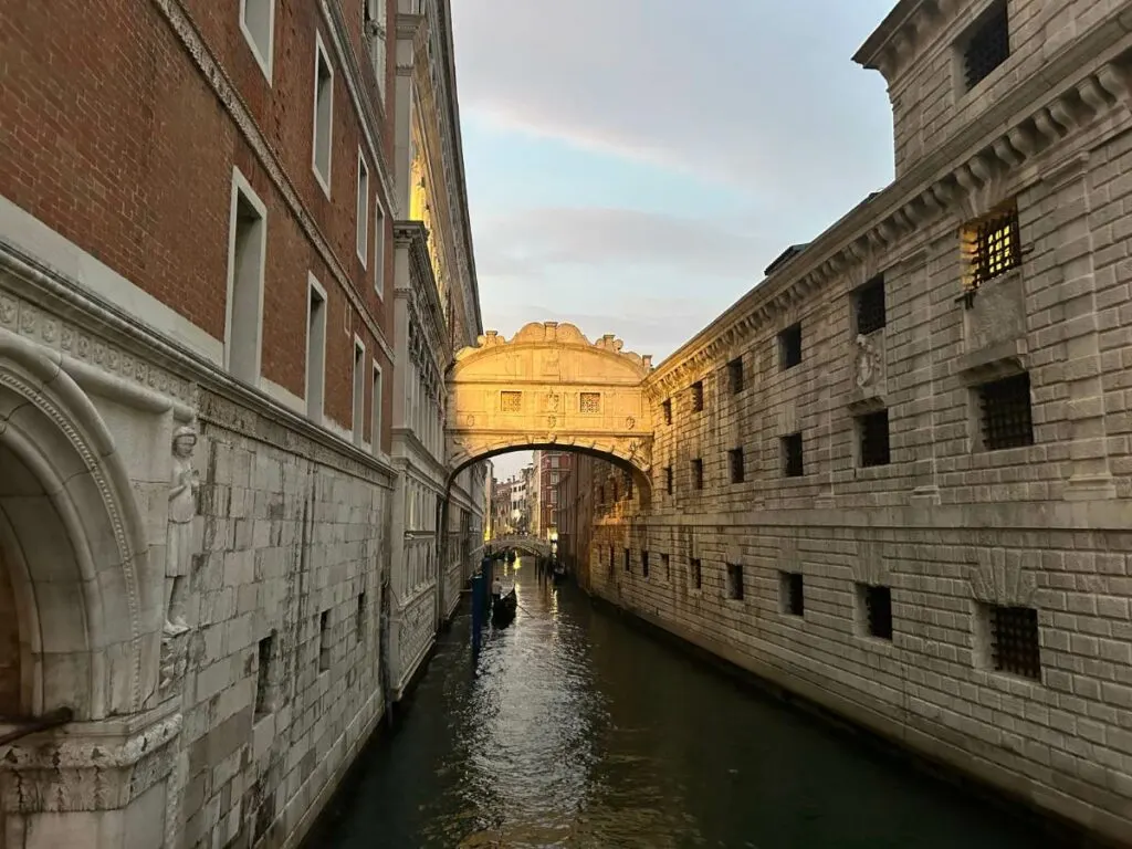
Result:
<svg viewBox="0 0 1132 849"><path fill-rule="evenodd" d="M597 594L1117 840L1130 20L902 0L857 54L895 180L650 375L651 492L580 463L573 546Z"/></svg>

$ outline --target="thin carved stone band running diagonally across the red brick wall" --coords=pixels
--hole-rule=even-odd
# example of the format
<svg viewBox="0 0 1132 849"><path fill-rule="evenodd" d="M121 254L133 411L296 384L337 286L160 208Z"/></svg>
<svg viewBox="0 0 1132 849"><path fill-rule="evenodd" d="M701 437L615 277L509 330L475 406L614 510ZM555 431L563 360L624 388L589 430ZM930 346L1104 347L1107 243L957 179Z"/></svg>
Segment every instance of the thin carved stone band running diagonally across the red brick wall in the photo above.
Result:
<svg viewBox="0 0 1132 849"><path fill-rule="evenodd" d="M393 348L385 338L384 332L370 315L369 308L366 306L365 301L362 301L361 295L358 294L353 280L338 261L334 249L331 247L329 240L318 228L318 224L315 222L314 217L311 217L310 213L307 212L307 207L303 204L299 191L295 189L294 183L291 182L291 178L284 170L282 162L280 162L271 145L267 144L267 139L264 137L263 130L260 130L259 125L256 123L256 119L251 115L251 111L248 109L247 103L243 102L243 97L240 95L239 89L232 83L231 78L229 78L224 67L221 65L220 60L216 59L212 50L208 48L207 42L205 42L204 37L200 35L200 31L197 27L196 22L192 19L192 16L185 8L181 0L151 1L157 7L157 10L165 18L170 28L181 41L186 52L189 54L189 58L200 70L201 77L212 87L216 100L220 101L221 105L232 119L232 123L235 126L237 130L239 130L240 135L243 136L248 147L251 148L252 154L255 154L259 164L263 166L264 173L268 177L268 179L271 179L275 190L290 208L291 214L299 224L299 228L310 240L310 243L326 264L331 274L334 275L335 281L342 289L343 293L345 293L346 300L350 301L353 310L361 317L366 328L377 341L378 346L385 353L386 358L388 358L389 362L393 362L395 360ZM392 198L393 195L388 194L386 199L391 200Z"/></svg>

